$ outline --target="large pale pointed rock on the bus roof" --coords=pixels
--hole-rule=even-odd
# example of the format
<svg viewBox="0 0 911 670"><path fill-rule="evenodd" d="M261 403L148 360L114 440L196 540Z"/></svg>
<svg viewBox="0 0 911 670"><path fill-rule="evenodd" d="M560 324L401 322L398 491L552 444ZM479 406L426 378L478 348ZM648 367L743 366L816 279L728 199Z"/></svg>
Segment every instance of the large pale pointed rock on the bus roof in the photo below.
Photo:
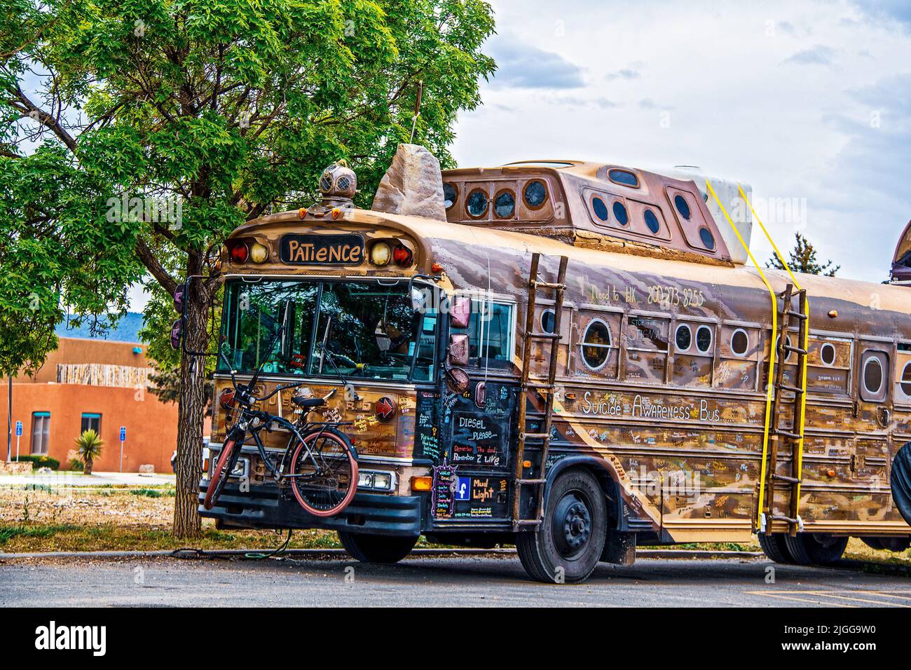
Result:
<svg viewBox="0 0 911 670"><path fill-rule="evenodd" d="M371 209L445 221L440 161L419 144L400 144Z"/></svg>

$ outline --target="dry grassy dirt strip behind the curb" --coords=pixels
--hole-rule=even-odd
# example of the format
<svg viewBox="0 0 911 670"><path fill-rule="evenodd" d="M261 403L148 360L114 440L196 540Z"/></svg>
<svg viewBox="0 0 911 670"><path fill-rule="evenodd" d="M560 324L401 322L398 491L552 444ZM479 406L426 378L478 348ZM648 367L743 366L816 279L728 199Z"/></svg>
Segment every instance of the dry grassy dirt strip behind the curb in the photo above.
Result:
<svg viewBox="0 0 911 670"><path fill-rule="evenodd" d="M170 534L174 515L172 487L46 486L0 489L0 551L139 551L179 549L187 541ZM191 542L200 549L264 549L280 546L286 531L217 531L203 520L203 536ZM288 545L295 549L341 547L332 531L294 531ZM425 544L424 539L419 546ZM679 548L760 551L756 542L686 544ZM875 551L852 539L845 556L860 561L906 563L911 550Z"/></svg>

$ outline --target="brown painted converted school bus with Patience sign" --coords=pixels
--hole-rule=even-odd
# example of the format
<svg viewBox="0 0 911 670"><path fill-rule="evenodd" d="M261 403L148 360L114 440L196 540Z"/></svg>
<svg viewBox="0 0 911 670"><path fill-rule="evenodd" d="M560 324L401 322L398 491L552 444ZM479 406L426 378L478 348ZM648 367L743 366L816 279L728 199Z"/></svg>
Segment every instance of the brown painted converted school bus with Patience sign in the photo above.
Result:
<svg viewBox="0 0 911 670"><path fill-rule="evenodd" d="M419 534L515 542L548 581L630 562L637 543L757 531L779 562L834 561L852 536L908 546L911 448L896 458L911 439L906 287L748 266L738 233L748 244L752 217L732 182L712 182L716 201L704 179L572 160L442 180L445 222L353 209L326 184L321 204L230 235L232 363L249 373L265 341L241 335L251 294L252 312L292 295L306 314L293 364L267 364L265 393L289 376L321 396L342 386L315 339L357 360L374 356L374 335L408 330L410 316L387 314L388 294L355 304L352 286L404 294L413 283L434 297L398 360L343 369L359 399L329 401L325 416L353 424L362 473L346 510L308 517L245 449L250 490L229 483L204 516L333 529L368 561L404 557ZM339 244L345 259L329 258ZM228 385L217 373L216 395ZM271 402L293 411L290 394ZM226 417L214 406L217 448Z"/></svg>

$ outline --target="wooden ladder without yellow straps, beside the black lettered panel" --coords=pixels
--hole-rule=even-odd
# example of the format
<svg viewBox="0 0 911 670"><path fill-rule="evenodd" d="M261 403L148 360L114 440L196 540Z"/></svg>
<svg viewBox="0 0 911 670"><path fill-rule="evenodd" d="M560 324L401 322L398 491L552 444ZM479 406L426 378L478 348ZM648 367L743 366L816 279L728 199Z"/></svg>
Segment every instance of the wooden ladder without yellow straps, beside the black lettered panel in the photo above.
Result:
<svg viewBox="0 0 911 670"><path fill-rule="evenodd" d="M525 333L523 334L522 343L522 384L519 387L518 398L518 420L517 435L518 445L516 448L516 470L512 479L512 496L513 496L513 530L518 531L522 528L537 527L541 524L544 516L544 484L546 479L546 469L548 463L548 451L550 449L550 428L554 413L554 391L556 385L554 380L557 377L557 358L559 354L559 341L563 339L560 335L560 327L563 316L563 292L566 289L566 275L568 258L560 256L560 265L557 273L557 282L540 282L537 279L537 268L541 260L540 253L534 253L531 256L531 268L528 272L528 302L525 313ZM537 289L552 289L554 291L554 327L550 333L535 332L535 307L537 300ZM528 377L531 373L531 343L534 340L544 340L550 342L550 356L548 358L548 374L546 382L531 382ZM527 391L537 391L546 397L544 404L544 426L538 433L527 432ZM525 447L527 440L541 440L541 458L537 465L537 472L531 476L525 477ZM522 498L522 487L534 486L537 488L535 497L534 517L523 518L520 513L520 502Z"/></svg>

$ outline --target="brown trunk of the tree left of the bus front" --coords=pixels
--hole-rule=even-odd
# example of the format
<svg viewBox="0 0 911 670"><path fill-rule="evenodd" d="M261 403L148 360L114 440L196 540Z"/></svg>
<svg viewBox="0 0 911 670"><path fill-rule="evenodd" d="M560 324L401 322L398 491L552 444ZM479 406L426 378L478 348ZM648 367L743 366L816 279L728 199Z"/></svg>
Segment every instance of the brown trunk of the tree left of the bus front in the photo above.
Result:
<svg viewBox="0 0 911 670"><path fill-rule="evenodd" d="M192 273L192 272L190 272ZM200 281L190 283L184 338L189 351L206 351L208 297ZM202 520L197 510L202 476L202 429L208 398L205 394L206 366L203 356L186 352L180 357L180 400L177 429L177 494L174 500L174 535L199 537Z"/></svg>

